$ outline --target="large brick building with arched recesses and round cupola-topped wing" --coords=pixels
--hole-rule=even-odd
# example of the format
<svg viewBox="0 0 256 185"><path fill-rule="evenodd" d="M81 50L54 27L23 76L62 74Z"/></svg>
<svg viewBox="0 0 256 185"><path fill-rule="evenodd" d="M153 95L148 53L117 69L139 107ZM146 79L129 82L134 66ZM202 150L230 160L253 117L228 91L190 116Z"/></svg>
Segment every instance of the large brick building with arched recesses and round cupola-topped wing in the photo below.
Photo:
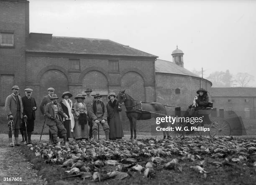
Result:
<svg viewBox="0 0 256 185"><path fill-rule="evenodd" d="M39 105L54 87L73 95L91 87L103 95L126 92L136 100L187 106L200 86L211 92L212 83L183 66L183 52L173 62L108 39L56 37L29 32L29 2L0 0L0 115L13 85L32 88ZM39 111L37 111L37 117Z"/></svg>

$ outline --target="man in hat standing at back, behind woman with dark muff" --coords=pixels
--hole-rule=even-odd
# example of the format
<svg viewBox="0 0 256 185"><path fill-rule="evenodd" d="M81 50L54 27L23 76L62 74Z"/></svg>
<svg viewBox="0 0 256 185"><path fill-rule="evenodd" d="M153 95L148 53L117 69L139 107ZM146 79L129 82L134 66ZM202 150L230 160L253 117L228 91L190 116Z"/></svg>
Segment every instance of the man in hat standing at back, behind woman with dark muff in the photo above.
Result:
<svg viewBox="0 0 256 185"><path fill-rule="evenodd" d="M91 93L92 93L91 88L86 88L86 90L84 92L86 92L84 103L86 105L87 111L90 112L90 108L91 108L92 104L95 102L95 98L91 95ZM89 139L91 139L92 138L92 118L90 117L90 114L88 114L87 120L88 120L88 125L90 126Z"/></svg>

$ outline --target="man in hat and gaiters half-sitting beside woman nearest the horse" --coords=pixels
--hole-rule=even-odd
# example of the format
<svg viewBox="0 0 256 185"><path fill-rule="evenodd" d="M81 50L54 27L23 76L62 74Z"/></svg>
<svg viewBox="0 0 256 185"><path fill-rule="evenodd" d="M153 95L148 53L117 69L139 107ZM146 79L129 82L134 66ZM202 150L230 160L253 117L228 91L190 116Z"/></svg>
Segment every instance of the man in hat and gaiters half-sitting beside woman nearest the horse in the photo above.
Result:
<svg viewBox="0 0 256 185"><path fill-rule="evenodd" d="M97 140L98 125L101 123L105 131L106 140L109 140L109 126L107 119L107 108L101 100L101 95L95 95L95 102L91 105L90 116L92 117L92 134L94 140Z"/></svg>

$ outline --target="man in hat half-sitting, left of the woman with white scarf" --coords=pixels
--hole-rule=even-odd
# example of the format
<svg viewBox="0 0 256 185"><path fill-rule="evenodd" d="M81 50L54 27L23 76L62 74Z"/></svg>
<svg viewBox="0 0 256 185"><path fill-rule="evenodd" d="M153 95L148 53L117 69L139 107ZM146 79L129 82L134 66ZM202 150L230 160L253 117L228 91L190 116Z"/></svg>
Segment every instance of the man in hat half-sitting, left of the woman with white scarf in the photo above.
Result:
<svg viewBox="0 0 256 185"><path fill-rule="evenodd" d="M68 116L63 112L61 105L57 103L57 95L51 96L51 102L46 104L44 113L46 115L46 125L49 126L49 130L54 138L54 144L58 142L58 131L64 138L64 143L67 142L67 130L64 127L63 117L68 119Z"/></svg>

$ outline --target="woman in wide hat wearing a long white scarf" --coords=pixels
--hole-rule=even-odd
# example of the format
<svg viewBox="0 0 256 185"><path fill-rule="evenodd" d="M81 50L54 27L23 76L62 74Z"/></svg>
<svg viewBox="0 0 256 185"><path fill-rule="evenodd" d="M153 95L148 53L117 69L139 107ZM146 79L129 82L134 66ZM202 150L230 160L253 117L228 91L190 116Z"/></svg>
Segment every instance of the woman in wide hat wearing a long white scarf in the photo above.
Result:
<svg viewBox="0 0 256 185"><path fill-rule="evenodd" d="M74 111L74 105L72 100L69 98L72 97L72 94L70 92L63 92L62 98L60 105L62 107L62 110L66 113L68 116L68 119L64 120L64 127L67 130L67 141L69 141L69 138L73 138L74 135L74 116L73 116L73 111Z"/></svg>

